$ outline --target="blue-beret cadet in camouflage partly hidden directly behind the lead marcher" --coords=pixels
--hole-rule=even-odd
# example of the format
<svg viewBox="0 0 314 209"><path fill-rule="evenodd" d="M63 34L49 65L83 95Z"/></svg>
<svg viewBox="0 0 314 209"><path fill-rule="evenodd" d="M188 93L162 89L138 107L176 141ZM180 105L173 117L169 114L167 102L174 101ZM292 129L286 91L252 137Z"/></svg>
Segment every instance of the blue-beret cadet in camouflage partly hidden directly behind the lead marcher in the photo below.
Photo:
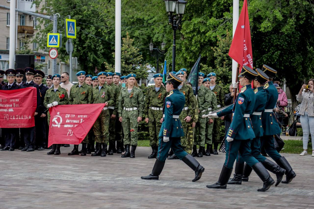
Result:
<svg viewBox="0 0 314 209"><path fill-rule="evenodd" d="M183 71L177 72L176 76L178 76L181 80L184 80ZM191 121L192 116L194 115L193 108L195 107L195 101L193 99L194 93L191 86L182 82L181 85L179 85L178 89L185 96L185 105L180 114L180 121L182 123L182 129L184 132L184 137L181 137L181 145L185 149L185 147L187 146L187 125L188 125L188 122ZM179 159L179 158L177 158L176 155L173 154L168 159L171 160L171 159Z"/></svg>

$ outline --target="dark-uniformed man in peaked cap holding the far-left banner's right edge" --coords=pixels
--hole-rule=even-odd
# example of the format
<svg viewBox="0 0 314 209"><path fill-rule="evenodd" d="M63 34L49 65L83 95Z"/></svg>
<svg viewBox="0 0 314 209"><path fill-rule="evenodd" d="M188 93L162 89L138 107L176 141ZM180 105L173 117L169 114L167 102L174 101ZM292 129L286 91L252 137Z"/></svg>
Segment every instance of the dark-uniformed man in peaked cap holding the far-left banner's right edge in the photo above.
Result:
<svg viewBox="0 0 314 209"><path fill-rule="evenodd" d="M37 108L35 110L35 116L41 110L41 99L39 87L32 80L34 78L35 70L31 67L26 67L24 69L26 76L26 83L21 84L21 88L35 87L37 91ZM32 152L35 150L35 126L30 128L22 128L20 129L23 132L25 147L21 151Z"/></svg>

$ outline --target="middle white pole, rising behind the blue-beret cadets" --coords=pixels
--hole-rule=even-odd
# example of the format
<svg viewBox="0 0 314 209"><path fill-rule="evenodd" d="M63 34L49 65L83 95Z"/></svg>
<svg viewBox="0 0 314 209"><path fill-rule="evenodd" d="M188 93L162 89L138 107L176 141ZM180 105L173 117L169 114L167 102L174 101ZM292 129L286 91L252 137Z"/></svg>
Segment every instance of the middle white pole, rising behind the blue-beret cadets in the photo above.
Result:
<svg viewBox="0 0 314 209"><path fill-rule="evenodd" d="M115 72L121 72L121 0L116 0Z"/></svg>

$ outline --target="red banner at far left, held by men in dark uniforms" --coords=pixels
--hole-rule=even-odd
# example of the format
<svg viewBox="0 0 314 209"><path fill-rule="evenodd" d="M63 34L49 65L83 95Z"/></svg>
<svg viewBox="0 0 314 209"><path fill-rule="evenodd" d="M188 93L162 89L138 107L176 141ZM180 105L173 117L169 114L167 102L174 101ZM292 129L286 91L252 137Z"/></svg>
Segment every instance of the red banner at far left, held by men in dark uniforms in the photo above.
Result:
<svg viewBox="0 0 314 209"><path fill-rule="evenodd" d="M36 88L0 90L0 128L35 126Z"/></svg>

